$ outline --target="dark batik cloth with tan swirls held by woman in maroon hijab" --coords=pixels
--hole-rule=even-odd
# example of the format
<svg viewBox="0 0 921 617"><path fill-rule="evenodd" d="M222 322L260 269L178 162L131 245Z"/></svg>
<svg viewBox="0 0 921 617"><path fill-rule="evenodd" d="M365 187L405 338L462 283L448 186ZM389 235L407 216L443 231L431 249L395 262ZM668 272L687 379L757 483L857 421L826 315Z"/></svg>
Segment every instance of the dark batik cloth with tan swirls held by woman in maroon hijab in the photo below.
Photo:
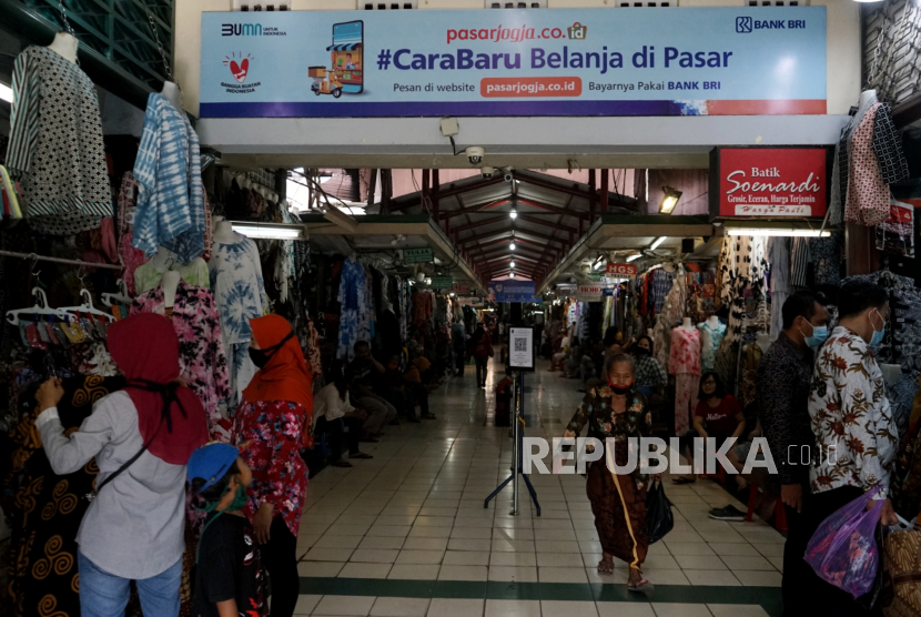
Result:
<svg viewBox="0 0 921 617"><path fill-rule="evenodd" d="M78 432L93 404L123 385L122 377L64 380L58 415L65 433ZM14 467L7 484L13 493L13 508L7 512L12 527L11 615L80 615L77 530L90 505L83 496L99 474L95 458L79 472L54 474L32 415L17 425L11 438Z"/></svg>

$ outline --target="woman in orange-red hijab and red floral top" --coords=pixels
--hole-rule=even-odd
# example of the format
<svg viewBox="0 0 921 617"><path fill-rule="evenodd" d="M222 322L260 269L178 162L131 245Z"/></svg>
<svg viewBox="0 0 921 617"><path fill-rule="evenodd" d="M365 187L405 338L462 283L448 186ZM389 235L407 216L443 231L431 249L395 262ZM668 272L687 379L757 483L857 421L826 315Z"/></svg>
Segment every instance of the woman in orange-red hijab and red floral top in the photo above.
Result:
<svg viewBox="0 0 921 617"><path fill-rule="evenodd" d="M250 320L250 357L259 372L243 391L231 443L253 471L243 508L252 520L262 563L272 578L272 617L291 617L297 604L297 528L307 490L301 458L313 413L313 377L291 324L280 315Z"/></svg>

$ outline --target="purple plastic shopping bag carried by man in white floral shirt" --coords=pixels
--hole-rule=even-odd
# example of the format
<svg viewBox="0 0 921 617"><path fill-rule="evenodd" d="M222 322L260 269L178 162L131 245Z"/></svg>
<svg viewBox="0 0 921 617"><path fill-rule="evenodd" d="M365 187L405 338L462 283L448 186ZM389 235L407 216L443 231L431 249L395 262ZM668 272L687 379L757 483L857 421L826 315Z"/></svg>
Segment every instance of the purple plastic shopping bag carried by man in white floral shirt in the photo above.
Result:
<svg viewBox="0 0 921 617"><path fill-rule="evenodd" d="M842 507L819 525L806 547L806 562L822 580L854 598L873 588L880 564L876 529L882 502L867 509L879 487Z"/></svg>

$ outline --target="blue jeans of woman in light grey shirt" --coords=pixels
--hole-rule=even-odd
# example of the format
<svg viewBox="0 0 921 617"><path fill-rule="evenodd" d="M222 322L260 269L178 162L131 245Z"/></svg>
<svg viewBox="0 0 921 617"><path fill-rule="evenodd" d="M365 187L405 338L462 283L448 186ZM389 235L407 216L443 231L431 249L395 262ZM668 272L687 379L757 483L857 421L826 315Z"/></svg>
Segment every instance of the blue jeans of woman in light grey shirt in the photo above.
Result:
<svg viewBox="0 0 921 617"><path fill-rule="evenodd" d="M103 570L77 552L80 568L80 611L83 617L124 617L130 594L129 578ZM182 579L182 558L166 572L138 580L138 596L144 615L176 617L179 587Z"/></svg>

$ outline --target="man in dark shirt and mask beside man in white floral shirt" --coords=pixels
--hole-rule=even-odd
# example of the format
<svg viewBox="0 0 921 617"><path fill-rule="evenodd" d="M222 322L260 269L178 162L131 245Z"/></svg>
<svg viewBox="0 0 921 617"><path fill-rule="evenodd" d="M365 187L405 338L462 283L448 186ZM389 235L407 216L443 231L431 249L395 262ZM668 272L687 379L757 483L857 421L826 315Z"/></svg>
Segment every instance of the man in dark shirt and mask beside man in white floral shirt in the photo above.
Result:
<svg viewBox="0 0 921 617"><path fill-rule="evenodd" d="M780 474L780 498L787 508L783 547L783 615L799 614L797 600L807 597L818 577L803 560L810 536L803 522L809 496L809 458L814 442L809 426L809 387L814 350L828 338L823 295L808 291L787 299L781 308L783 330L758 366L758 417Z"/></svg>

